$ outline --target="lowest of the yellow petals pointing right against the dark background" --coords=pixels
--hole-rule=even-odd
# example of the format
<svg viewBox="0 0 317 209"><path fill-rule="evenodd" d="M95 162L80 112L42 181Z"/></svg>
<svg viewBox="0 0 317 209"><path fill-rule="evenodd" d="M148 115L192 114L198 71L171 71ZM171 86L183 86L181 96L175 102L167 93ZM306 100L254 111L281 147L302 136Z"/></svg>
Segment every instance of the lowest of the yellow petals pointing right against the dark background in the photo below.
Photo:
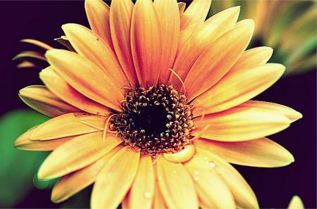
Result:
<svg viewBox="0 0 317 209"><path fill-rule="evenodd" d="M294 162L289 151L266 138L239 142L199 139L195 146L237 165L281 167Z"/></svg>

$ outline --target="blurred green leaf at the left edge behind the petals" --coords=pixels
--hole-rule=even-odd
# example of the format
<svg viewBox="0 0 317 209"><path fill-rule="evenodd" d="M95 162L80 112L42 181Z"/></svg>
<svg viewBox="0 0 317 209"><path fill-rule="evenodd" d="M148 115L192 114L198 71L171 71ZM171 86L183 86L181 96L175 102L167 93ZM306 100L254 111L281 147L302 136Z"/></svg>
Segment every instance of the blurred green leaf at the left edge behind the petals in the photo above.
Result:
<svg viewBox="0 0 317 209"><path fill-rule="evenodd" d="M0 118L1 208L13 207L35 187L33 177L46 153L21 151L13 144L27 129L46 120L45 116L32 110L15 110Z"/></svg>

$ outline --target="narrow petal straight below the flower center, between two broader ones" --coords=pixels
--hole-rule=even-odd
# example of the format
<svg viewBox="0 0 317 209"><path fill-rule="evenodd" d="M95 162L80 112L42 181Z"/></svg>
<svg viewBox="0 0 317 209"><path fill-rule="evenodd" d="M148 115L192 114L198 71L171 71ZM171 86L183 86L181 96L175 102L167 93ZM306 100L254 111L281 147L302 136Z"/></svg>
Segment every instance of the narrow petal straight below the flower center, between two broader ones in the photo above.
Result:
<svg viewBox="0 0 317 209"><path fill-rule="evenodd" d="M135 181L123 201L124 208L151 208L154 199L154 180L151 156L142 156Z"/></svg>

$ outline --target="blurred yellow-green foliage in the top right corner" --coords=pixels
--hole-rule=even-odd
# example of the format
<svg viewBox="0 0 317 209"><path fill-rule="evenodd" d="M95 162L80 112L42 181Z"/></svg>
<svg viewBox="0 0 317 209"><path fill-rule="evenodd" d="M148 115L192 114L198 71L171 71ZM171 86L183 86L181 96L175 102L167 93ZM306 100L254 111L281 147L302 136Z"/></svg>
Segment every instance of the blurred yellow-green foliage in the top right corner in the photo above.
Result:
<svg viewBox="0 0 317 209"><path fill-rule="evenodd" d="M240 19L255 21L255 40L273 47L275 53L271 61L282 62L287 67L287 75L316 68L316 0L213 1L210 15L238 5L241 6Z"/></svg>

